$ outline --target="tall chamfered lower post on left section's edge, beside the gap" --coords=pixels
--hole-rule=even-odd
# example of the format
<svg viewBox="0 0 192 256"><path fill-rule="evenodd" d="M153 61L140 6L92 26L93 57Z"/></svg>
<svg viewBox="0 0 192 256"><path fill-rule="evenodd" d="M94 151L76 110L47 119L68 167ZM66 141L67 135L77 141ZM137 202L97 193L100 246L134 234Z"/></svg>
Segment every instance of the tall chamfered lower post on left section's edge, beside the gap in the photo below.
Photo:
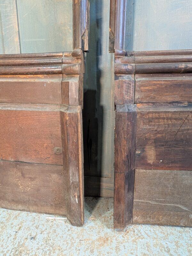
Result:
<svg viewBox="0 0 192 256"><path fill-rule="evenodd" d="M60 109L66 215L72 225L84 224L83 131L81 106Z"/></svg>

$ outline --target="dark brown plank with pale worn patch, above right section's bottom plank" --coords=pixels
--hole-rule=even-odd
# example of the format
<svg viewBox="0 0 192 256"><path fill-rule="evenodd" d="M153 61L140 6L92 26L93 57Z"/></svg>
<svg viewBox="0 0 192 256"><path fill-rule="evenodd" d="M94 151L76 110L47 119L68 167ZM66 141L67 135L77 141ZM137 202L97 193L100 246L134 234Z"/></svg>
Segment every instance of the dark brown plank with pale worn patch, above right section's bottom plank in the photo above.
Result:
<svg viewBox="0 0 192 256"><path fill-rule="evenodd" d="M136 169L192 170L192 104L137 104Z"/></svg>

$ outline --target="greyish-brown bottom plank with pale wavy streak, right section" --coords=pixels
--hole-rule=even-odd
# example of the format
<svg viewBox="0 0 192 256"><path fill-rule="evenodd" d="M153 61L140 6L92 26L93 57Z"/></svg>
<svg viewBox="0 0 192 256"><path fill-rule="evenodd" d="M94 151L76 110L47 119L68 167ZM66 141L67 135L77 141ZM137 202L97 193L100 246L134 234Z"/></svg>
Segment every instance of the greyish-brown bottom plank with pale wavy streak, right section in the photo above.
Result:
<svg viewBox="0 0 192 256"><path fill-rule="evenodd" d="M192 226L192 172L135 170L133 223Z"/></svg>

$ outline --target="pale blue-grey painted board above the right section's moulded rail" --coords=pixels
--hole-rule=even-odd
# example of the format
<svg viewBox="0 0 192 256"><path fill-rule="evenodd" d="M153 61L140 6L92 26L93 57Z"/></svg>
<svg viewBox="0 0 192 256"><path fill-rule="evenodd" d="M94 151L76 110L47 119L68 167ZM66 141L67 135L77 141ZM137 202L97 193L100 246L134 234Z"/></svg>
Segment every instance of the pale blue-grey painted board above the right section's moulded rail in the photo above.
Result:
<svg viewBox="0 0 192 256"><path fill-rule="evenodd" d="M127 2L126 50L191 49L192 0Z"/></svg>

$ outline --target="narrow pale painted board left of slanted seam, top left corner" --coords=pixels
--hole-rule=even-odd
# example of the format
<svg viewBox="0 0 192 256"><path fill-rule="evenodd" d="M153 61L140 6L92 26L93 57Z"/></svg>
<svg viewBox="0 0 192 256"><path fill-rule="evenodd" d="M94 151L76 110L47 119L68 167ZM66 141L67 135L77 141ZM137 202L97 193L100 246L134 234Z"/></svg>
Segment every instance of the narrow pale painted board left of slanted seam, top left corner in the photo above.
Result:
<svg viewBox="0 0 192 256"><path fill-rule="evenodd" d="M0 0L0 54L20 53L16 0Z"/></svg>

